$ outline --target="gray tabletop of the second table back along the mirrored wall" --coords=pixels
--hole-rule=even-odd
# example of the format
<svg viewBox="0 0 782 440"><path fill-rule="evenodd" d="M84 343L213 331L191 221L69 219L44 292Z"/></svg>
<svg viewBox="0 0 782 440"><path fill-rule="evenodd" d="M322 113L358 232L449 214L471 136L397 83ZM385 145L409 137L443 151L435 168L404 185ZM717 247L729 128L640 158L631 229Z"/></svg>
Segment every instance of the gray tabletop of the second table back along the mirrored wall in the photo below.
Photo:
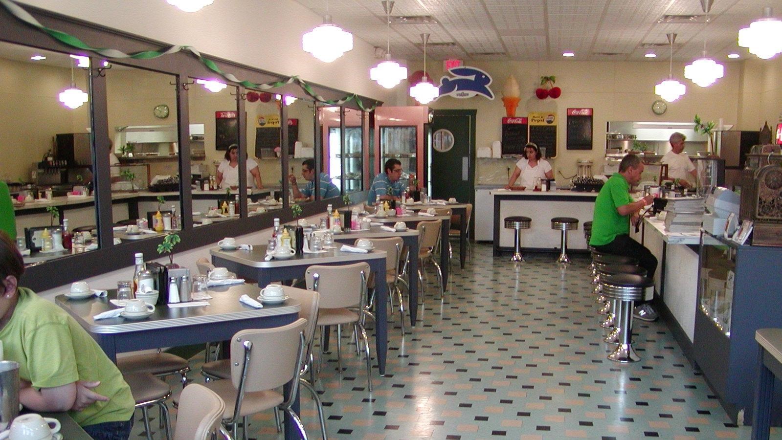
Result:
<svg viewBox="0 0 782 440"><path fill-rule="evenodd" d="M368 259L386 258L386 251L340 252L339 249L327 249L326 252L317 254L295 255L289 259L270 259L266 261L266 245L253 245L253 250L236 249L224 251L220 248L209 250L210 255L228 259L244 266L273 269L277 267L296 267L312 264L353 263Z"/></svg>

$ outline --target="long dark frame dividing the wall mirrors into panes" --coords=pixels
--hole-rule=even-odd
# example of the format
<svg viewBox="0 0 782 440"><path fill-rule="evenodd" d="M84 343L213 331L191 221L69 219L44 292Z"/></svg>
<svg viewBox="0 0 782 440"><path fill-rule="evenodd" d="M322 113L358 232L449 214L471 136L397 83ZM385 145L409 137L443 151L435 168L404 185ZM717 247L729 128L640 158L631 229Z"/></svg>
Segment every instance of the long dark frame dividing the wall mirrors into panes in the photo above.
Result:
<svg viewBox="0 0 782 440"><path fill-rule="evenodd" d="M83 20L77 20L71 17L62 16L56 13L46 11L45 9L39 9L28 5L21 5L28 13L34 16L38 21L43 23L46 27L56 29L65 32L66 34L74 35L80 38L81 41L85 41L92 47L99 48L116 48L125 53L135 53L149 50L159 50L160 48L168 47L170 44L162 43L160 41L154 41L149 38L144 38L134 34L128 34L118 30L111 30L106 27L99 26L95 23L88 23ZM44 34L40 30L30 27L26 23L17 20L12 16L5 8L0 8L0 41L7 41L17 45L25 45L28 47L48 49L57 52L67 53L80 53L83 55L89 55L91 58L91 66L100 66L104 58L97 56L91 52L84 52L71 48L70 46L63 45L58 41L53 40ZM285 80L287 77L283 77L279 74L259 70L253 67L249 67L239 63L232 63L231 61L214 57L211 55L203 54L206 58L213 60L213 62L224 72L233 73L236 77L243 80L249 80L256 84L264 84L272 81ZM111 60L109 59L109 63ZM315 62L315 61L313 61ZM189 114L188 114L188 91L187 91L187 79L188 77L203 77L214 76L213 71L208 70L196 59L193 55L185 52L178 52L170 55L164 55L156 59L121 59L118 63L126 64L128 66L137 66L146 70L155 70L160 73L167 73L174 75L177 79L177 121L178 133L179 133L179 148L180 148L180 160L179 171L180 181L183 182L180 187L180 200L184 213L192 212L192 189L190 185L184 184L191 181L190 174L190 141L189 141ZM96 212L96 225L98 225L99 231L99 249L92 252L85 252L78 255L66 256L62 259L55 259L45 263L38 263L30 265L26 268L25 274L20 281L26 287L32 288L35 291L41 292L50 288L56 288L68 284L72 281L83 280L88 277L95 277L100 274L105 274L113 270L120 270L127 267L132 267L133 255L135 252L143 252L145 259L157 259L157 245L163 240L163 238L154 238L148 240L138 241L135 245L113 245L113 222L112 222L112 195L111 184L109 176L109 125L106 106L106 77L103 77L100 72L100 68L90 68L89 79L89 94L90 94L90 113L91 113L91 144L92 148L92 163L95 164L95 212ZM239 93L237 94L237 108L239 114L244 114L245 105L243 96L246 93L246 89L242 84L231 83L226 81L227 84L233 84L238 87ZM327 88L318 84L309 83L310 88L315 94L320 95L326 100L336 101L348 95L346 91L339 91L333 88ZM280 88L274 89L272 93L278 93L280 95L293 95L296 97L305 96L304 91L297 84L285 84ZM359 96L358 98L364 102L364 106L377 106L382 102L378 102L374 99ZM349 106L350 108L359 109L355 104L355 101L350 101L343 106ZM281 120L286 120L285 106L281 109ZM246 127L243 118L239 118L239 148L240 152L247 151L247 139L246 139ZM283 151L288 151L287 141L287 127L286 124L282 124L282 144ZM316 145L317 147L317 145ZM318 151L318 148L315 149ZM316 162L318 157L316 153ZM239 158L243 158L244 155L240 154ZM320 163L317 163L320 165ZM282 155L282 175L287 175L284 170L289 169L289 161L287 155ZM240 159L240 179L243 176L242 171L246 173L244 167L244 160ZM246 178L246 177L244 177ZM250 234L256 231L263 230L272 226L274 217L280 218L282 222L289 222L293 219L292 212L288 203L288 198L283 198L283 209L275 210L270 213L263 213L258 216L247 216L247 191L240 185L239 199L242 206L241 217L239 220L231 221L230 225L214 224L210 227L199 227L193 229L192 217L189 215L182 216L183 228L179 232L181 237L181 243L177 246L176 251L186 251L189 249L196 249L206 245L210 245L220 240L226 235L240 236L243 234ZM289 184L287 179L282 179L282 191L287 195L289 191ZM358 202L362 197L366 197L364 193L353 193L351 195L352 202ZM335 203L335 206L342 206L342 200L329 199L329 202ZM302 216L312 216L317 213L321 213L326 207L326 201L316 201L313 203L307 203L303 205Z"/></svg>

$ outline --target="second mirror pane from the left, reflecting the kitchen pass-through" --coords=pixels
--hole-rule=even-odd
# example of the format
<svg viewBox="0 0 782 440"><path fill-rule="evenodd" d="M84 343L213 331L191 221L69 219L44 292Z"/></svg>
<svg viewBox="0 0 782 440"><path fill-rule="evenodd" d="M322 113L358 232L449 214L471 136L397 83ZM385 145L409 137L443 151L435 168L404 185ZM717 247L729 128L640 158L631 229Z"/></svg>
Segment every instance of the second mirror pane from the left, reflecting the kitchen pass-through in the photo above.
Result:
<svg viewBox="0 0 782 440"><path fill-rule="evenodd" d="M133 243L178 231L176 77L117 63L104 74L114 238Z"/></svg>

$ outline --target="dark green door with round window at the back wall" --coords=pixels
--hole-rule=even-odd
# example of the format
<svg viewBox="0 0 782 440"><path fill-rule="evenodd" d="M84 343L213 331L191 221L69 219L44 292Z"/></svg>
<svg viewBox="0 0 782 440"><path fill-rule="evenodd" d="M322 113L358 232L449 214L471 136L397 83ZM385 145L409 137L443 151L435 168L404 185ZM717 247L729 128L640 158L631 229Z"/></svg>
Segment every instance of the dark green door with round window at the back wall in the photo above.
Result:
<svg viewBox="0 0 782 440"><path fill-rule="evenodd" d="M432 199L475 198L475 113L434 110L430 124L428 185Z"/></svg>

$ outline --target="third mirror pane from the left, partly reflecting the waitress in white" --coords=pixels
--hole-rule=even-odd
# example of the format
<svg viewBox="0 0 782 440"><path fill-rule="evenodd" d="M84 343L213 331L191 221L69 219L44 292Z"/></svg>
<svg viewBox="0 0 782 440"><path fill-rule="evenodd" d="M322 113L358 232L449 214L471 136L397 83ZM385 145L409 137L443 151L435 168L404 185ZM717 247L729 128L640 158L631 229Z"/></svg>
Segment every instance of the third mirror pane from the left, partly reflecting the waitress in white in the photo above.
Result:
<svg viewBox="0 0 782 440"><path fill-rule="evenodd" d="M239 218L239 111L237 88L214 78L190 78L188 113L192 125L203 124L203 156L191 159L191 173L201 189L192 193L193 224L221 224ZM192 127L191 125L191 127ZM191 131L191 136L194 132ZM196 143L192 149L201 148ZM246 154L246 153L245 153ZM208 181L208 182L207 182ZM209 184L206 190L206 184ZM248 194L260 191L258 163L247 155Z"/></svg>

